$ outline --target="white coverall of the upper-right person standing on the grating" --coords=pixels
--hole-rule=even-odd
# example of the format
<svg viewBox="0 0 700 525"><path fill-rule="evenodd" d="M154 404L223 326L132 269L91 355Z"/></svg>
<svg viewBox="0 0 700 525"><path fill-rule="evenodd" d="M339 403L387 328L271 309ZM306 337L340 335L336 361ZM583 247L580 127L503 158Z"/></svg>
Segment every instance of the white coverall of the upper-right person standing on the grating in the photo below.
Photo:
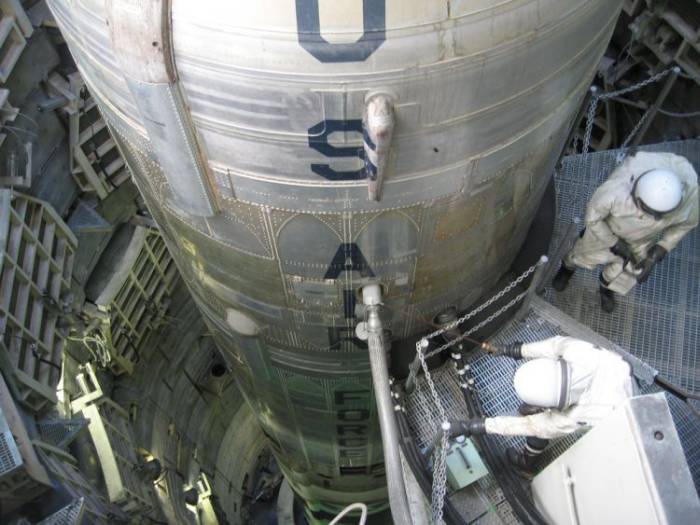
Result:
<svg viewBox="0 0 700 525"><path fill-rule="evenodd" d="M656 219L637 207L632 195L635 181L652 169L673 171L684 186L678 207ZM672 153L639 152L627 157L593 194L586 210L586 231L564 259L569 269L593 269L605 264L603 279L613 292L626 295L637 284L634 268L659 244L670 252L698 224L698 175L684 157ZM625 241L637 261L625 261L610 248ZM623 267L624 265L624 267Z"/></svg>

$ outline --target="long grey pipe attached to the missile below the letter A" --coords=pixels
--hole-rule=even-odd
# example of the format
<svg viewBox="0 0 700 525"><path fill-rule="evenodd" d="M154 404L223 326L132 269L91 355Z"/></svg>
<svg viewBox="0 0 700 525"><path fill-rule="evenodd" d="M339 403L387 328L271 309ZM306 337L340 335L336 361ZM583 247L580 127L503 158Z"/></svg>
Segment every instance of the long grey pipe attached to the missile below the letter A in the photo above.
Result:
<svg viewBox="0 0 700 525"><path fill-rule="evenodd" d="M364 328L369 347L369 363L372 369L374 396L377 401L379 428L382 432L382 448L384 450L391 515L394 523L412 525L413 519L408 507L399 452L399 430L394 416L394 405L391 402L384 333L382 321L379 318L381 295L381 288L378 284L370 284L362 289L362 300L367 307L367 321L364 323Z"/></svg>

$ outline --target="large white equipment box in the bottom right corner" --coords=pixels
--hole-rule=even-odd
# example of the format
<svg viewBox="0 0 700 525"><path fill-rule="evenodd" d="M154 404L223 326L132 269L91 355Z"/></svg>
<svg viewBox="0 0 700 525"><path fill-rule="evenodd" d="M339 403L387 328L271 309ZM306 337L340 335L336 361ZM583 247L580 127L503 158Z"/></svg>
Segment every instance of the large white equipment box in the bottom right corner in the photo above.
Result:
<svg viewBox="0 0 700 525"><path fill-rule="evenodd" d="M700 501L663 394L634 397L532 482L556 525L698 523Z"/></svg>

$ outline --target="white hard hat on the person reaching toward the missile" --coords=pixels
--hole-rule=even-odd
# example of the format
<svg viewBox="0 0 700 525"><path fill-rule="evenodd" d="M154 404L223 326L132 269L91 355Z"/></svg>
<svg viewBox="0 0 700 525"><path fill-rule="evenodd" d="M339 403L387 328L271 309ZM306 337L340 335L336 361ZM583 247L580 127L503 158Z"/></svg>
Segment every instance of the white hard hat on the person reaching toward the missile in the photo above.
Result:
<svg viewBox="0 0 700 525"><path fill-rule="evenodd" d="M568 406L569 374L564 360L533 359L516 370L513 386L528 405L564 409Z"/></svg>

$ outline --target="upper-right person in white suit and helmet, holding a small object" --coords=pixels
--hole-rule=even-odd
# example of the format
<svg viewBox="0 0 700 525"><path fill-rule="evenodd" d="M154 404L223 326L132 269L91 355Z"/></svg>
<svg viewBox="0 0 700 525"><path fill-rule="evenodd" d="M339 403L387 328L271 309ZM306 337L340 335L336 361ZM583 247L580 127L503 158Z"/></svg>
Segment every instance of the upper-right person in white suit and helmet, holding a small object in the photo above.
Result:
<svg viewBox="0 0 700 525"><path fill-rule="evenodd" d="M698 224L698 176L684 157L644 153L627 157L593 194L586 227L553 281L563 291L576 267L600 274L601 307L626 295Z"/></svg>

